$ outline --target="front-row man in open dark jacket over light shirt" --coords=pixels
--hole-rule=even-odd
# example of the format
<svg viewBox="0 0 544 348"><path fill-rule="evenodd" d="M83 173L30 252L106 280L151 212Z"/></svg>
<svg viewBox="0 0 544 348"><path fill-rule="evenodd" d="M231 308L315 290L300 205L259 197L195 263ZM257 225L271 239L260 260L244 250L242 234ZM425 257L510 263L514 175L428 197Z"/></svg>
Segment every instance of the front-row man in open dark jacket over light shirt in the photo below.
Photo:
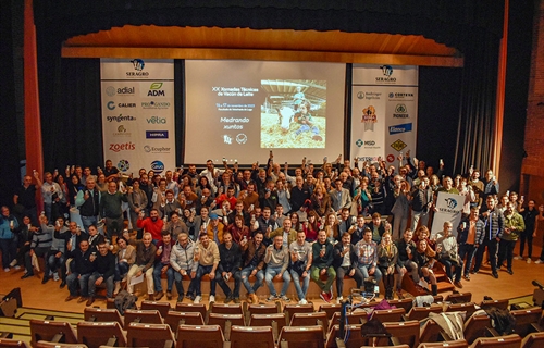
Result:
<svg viewBox="0 0 544 348"><path fill-rule="evenodd" d="M353 277L360 288L362 285L362 273L357 268L357 252L351 244L351 235L348 232L342 234L342 243L337 243L333 248L333 266L336 270L336 290L338 291L337 302L344 298L344 276Z"/></svg>

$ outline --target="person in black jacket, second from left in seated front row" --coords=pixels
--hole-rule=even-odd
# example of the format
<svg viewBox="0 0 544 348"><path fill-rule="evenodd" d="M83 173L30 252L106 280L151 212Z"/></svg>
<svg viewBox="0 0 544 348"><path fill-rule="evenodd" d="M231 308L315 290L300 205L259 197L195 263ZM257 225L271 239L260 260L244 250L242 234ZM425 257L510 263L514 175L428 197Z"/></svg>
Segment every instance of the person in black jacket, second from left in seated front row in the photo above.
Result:
<svg viewBox="0 0 544 348"><path fill-rule="evenodd" d="M113 275L115 274L115 256L108 248L106 241L98 245L98 254L90 258L95 265L95 272L89 276L89 299L86 306L95 302L95 289L97 285L106 283L106 296L113 297Z"/></svg>

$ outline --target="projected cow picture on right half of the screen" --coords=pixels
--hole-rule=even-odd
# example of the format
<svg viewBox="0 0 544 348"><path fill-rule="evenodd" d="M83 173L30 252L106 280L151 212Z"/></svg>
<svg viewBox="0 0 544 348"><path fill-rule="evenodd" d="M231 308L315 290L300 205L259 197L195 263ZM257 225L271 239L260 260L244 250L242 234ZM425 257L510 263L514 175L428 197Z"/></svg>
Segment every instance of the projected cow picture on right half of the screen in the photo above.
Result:
<svg viewBox="0 0 544 348"><path fill-rule="evenodd" d="M262 79L261 148L325 148L326 80Z"/></svg>

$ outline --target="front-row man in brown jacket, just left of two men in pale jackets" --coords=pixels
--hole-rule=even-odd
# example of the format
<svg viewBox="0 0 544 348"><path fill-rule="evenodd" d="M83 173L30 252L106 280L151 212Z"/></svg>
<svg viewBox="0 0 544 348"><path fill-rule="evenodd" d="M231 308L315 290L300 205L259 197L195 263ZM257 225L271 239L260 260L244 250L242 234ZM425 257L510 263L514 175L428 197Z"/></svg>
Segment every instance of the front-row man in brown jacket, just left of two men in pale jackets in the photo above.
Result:
<svg viewBox="0 0 544 348"><path fill-rule="evenodd" d="M170 265L170 253L174 241L170 232L163 231L161 240L157 243L157 256L154 257L153 284L154 300L159 301L163 296L161 275L166 274L166 299L172 299L172 287L174 286L174 270Z"/></svg>

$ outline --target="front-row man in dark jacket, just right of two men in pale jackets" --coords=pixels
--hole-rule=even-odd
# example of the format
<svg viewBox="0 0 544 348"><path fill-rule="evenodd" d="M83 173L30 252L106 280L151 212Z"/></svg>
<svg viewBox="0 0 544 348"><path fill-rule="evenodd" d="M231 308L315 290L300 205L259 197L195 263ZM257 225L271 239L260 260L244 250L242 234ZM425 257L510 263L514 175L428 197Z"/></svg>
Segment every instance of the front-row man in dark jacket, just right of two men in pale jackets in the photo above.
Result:
<svg viewBox="0 0 544 348"><path fill-rule="evenodd" d="M233 236L228 231L223 232L223 243L219 245L219 256L221 261L215 272L215 282L218 282L226 296L225 303L232 300L234 300L235 303L239 303L242 251L239 245L233 243ZM230 278L234 278L233 290L226 285Z"/></svg>

